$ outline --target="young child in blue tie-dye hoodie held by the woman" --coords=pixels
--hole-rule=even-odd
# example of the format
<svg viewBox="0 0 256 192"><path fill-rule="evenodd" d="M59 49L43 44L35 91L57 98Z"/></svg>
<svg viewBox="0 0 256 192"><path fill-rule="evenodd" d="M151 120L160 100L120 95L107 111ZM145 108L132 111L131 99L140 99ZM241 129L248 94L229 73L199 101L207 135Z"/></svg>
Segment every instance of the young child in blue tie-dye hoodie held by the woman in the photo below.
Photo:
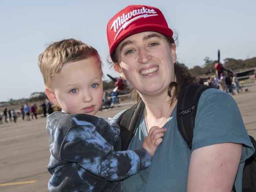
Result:
<svg viewBox="0 0 256 192"><path fill-rule="evenodd" d="M39 55L49 100L62 111L47 116L50 191L122 191L120 180L150 165L166 129L150 129L142 148L119 151L117 124L94 116L102 105L102 62L95 48L75 39Z"/></svg>

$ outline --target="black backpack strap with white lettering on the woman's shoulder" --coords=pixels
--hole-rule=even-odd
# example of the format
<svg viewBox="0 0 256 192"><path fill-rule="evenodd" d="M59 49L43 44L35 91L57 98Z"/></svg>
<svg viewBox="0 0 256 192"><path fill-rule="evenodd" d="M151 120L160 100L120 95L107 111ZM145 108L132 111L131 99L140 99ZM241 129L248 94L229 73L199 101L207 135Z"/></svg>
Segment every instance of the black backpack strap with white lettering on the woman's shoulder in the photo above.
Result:
<svg viewBox="0 0 256 192"><path fill-rule="evenodd" d="M193 130L197 114L198 100L202 92L209 89L206 85L189 83L182 87L177 102L177 124L180 134L189 149L192 148Z"/></svg>

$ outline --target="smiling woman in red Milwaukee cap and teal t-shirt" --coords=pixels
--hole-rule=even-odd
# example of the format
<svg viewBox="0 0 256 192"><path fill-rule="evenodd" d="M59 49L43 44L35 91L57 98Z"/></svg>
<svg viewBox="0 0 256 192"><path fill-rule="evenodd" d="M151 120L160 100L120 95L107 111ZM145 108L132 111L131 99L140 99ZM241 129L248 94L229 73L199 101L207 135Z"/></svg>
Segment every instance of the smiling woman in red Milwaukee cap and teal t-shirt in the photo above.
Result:
<svg viewBox="0 0 256 192"><path fill-rule="evenodd" d="M145 103L129 149L141 146L151 127L167 128L151 166L124 180L124 191L230 192L236 178L241 192L244 161L254 149L231 96L217 89L202 93L191 151L178 131L178 93L193 78L176 63L173 31L161 11L125 7L109 21L107 36L114 69ZM216 113L220 107L225 110Z"/></svg>

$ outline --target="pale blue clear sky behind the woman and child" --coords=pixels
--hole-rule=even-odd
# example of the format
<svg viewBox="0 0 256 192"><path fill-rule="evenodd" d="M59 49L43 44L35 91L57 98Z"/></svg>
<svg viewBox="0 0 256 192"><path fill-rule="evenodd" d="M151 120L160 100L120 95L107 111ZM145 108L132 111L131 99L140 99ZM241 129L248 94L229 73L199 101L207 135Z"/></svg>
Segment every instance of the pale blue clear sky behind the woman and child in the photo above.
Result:
<svg viewBox="0 0 256 192"><path fill-rule="evenodd" d="M189 68L203 65L206 56L256 57L255 0L2 0L0 6L0 101L28 98L44 91L37 57L47 44L66 38L94 46L109 69L106 25L129 4L158 7L178 34L178 61Z"/></svg>

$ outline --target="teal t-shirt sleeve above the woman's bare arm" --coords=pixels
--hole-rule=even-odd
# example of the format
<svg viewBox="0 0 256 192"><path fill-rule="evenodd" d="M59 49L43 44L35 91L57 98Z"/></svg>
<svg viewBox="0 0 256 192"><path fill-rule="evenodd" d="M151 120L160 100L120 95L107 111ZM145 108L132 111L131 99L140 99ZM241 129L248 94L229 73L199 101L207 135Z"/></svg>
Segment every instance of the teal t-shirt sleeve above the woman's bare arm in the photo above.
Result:
<svg viewBox="0 0 256 192"><path fill-rule="evenodd" d="M234 99L225 92L208 89L198 102L192 151L225 142L243 144L241 162L254 152Z"/></svg>

